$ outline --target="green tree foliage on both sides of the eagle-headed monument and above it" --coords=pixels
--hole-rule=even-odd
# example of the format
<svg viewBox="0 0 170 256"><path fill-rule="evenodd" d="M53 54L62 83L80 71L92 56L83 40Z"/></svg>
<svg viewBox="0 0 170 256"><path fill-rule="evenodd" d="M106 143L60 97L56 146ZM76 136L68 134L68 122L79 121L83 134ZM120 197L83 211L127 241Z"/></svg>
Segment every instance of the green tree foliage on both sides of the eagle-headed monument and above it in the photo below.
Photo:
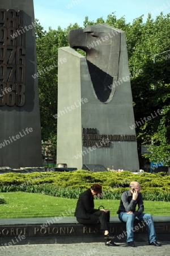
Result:
<svg viewBox="0 0 170 256"><path fill-rule="evenodd" d="M144 23L142 15L130 24L126 23L124 16L117 19L112 13L106 20L101 17L96 22L90 21L86 16L83 23L83 27L107 23L125 31L135 121L141 121L141 125L136 125L141 168L148 161L147 158L157 162L166 159L164 163L170 163L169 17L170 14L160 13L154 20L148 14ZM75 23L65 29L58 27L57 30L49 28L49 31L44 31L36 20L42 139L53 141L53 150L56 149L57 134L57 120L53 115L57 113L58 48L69 46L67 35L73 28L80 27ZM50 66L53 68L48 69ZM152 117L150 120L147 119L149 116ZM151 153L141 155L141 144L150 145Z"/></svg>

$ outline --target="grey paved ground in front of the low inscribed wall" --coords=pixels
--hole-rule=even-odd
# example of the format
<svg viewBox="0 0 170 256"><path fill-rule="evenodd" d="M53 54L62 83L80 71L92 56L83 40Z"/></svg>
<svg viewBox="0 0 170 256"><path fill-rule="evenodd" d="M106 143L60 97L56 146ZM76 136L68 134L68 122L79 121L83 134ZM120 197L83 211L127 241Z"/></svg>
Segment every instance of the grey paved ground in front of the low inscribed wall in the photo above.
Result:
<svg viewBox="0 0 170 256"><path fill-rule="evenodd" d="M105 246L104 243L72 243L54 245L13 245L0 247L1 256L170 256L170 242L161 247L136 242L137 247L120 243L118 247Z"/></svg>

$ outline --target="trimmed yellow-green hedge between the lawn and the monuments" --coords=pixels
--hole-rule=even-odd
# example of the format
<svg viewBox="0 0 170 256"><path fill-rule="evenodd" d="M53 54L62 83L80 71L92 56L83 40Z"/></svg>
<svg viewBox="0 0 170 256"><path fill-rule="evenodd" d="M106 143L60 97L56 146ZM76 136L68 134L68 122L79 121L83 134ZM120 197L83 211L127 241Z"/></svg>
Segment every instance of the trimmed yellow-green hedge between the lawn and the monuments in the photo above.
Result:
<svg viewBox="0 0 170 256"><path fill-rule="evenodd" d="M129 188L129 183L133 180L141 184L144 200L170 200L170 176L164 172L158 174L84 170L27 174L8 172L0 176L0 192L25 191L78 198L79 193L90 188L91 184L100 183L103 186L101 199L120 199L121 193Z"/></svg>

